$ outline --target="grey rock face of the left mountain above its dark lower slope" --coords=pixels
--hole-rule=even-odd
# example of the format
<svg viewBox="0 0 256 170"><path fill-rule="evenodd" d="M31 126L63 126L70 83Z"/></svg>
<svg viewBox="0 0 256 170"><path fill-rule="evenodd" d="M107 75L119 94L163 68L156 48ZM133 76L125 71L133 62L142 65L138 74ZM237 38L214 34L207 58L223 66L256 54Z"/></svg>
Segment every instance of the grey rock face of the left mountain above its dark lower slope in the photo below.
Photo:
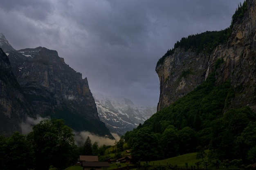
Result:
<svg viewBox="0 0 256 170"><path fill-rule="evenodd" d="M36 113L64 104L75 109L79 106L79 114L99 120L87 79L65 64L56 51L38 47L7 53L13 73L33 102Z"/></svg>

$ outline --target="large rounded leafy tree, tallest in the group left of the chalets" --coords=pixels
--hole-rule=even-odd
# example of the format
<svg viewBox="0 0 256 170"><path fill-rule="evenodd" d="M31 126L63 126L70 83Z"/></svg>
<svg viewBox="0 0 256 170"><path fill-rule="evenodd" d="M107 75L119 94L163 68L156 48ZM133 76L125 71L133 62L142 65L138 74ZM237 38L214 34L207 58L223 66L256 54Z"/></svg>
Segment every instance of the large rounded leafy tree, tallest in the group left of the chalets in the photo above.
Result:
<svg viewBox="0 0 256 170"><path fill-rule="evenodd" d="M72 129L63 119L40 121L28 134L34 152L36 169L48 169L49 166L65 168L74 161L74 137Z"/></svg>

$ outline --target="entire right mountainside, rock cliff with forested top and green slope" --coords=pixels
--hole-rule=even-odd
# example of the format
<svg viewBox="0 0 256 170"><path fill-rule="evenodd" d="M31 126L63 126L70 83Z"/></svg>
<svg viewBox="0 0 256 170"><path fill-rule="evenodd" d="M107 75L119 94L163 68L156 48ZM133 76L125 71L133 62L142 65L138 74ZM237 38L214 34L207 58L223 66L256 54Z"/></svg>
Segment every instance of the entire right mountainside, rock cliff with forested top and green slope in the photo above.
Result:
<svg viewBox="0 0 256 170"><path fill-rule="evenodd" d="M166 159L207 148L208 163L217 169L238 159L252 167L255 41L256 0L247 0L230 28L189 35L167 51L156 66L161 89L157 113L125 134L132 157Z"/></svg>

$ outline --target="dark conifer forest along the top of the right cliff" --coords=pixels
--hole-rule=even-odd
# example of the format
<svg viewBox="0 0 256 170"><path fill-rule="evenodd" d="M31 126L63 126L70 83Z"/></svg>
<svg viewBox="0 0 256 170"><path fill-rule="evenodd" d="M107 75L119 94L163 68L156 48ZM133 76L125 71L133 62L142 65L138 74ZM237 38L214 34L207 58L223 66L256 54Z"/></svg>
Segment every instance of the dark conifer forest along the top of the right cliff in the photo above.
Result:
<svg viewBox="0 0 256 170"><path fill-rule="evenodd" d="M219 44L226 43L229 39L229 36L231 35L232 28L234 23L242 22L242 17L247 11L247 2L243 2L243 5L240 3L238 4L238 8L236 9L236 12L232 16L231 25L229 28L221 31L206 31L204 33L196 34L196 35L189 35L186 38L182 38L180 41L177 41L174 44L174 48L171 50L168 50L163 57L161 57L158 62L157 66L159 64L162 64L164 62L164 59L172 55L177 48L183 48L184 51L187 51L188 49L192 50L193 52L196 52L197 54L204 52L204 53L211 53L213 49L216 48Z"/></svg>

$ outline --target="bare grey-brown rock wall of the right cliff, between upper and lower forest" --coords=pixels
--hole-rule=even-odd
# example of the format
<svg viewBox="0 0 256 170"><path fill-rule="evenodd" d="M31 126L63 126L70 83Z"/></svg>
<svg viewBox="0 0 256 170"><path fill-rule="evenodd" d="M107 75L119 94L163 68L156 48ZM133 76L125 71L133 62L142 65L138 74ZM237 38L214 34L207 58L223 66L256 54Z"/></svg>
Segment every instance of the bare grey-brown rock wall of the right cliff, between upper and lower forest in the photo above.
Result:
<svg viewBox="0 0 256 170"><path fill-rule="evenodd" d="M199 54L191 49L174 50L157 65L160 97L157 110L169 106L200 85L215 68L217 59L224 62L216 70L216 83L231 80L235 97L229 107L250 106L256 111L256 2L247 0L247 11L234 23L227 43L219 44L211 53Z"/></svg>

